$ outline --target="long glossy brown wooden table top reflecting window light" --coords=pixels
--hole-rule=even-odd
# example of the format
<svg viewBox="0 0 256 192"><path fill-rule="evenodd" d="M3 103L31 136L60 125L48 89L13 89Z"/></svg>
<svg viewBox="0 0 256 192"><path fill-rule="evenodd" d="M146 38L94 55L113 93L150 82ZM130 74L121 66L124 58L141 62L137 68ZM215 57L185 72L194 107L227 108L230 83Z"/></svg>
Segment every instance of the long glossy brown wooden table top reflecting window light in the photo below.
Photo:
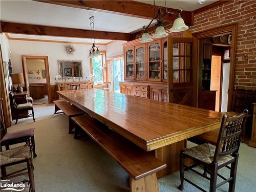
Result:
<svg viewBox="0 0 256 192"><path fill-rule="evenodd" d="M57 91L146 151L220 127L222 113L98 89Z"/></svg>

